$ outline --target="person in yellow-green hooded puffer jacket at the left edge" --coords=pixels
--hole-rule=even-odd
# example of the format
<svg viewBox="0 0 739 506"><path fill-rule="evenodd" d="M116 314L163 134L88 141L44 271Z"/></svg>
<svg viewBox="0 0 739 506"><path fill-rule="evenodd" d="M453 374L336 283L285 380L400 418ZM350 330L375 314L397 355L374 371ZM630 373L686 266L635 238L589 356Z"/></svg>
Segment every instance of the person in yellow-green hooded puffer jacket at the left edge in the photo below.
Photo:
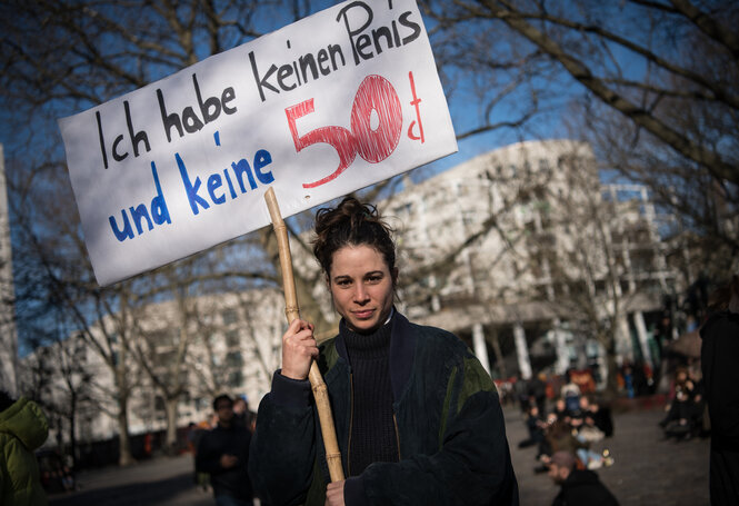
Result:
<svg viewBox="0 0 739 506"><path fill-rule="evenodd" d="M47 440L49 423L41 408L21 397L14 400L0 390L0 504L48 504L33 453Z"/></svg>

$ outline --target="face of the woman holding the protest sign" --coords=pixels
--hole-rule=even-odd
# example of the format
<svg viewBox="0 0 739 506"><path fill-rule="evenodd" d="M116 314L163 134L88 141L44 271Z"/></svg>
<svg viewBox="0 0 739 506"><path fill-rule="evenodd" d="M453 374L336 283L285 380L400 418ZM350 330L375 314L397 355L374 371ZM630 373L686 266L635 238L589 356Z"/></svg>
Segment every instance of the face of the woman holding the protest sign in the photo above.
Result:
<svg viewBox="0 0 739 506"><path fill-rule="evenodd" d="M329 288L336 310L351 330L368 334L385 324L396 276L371 246L344 246L333 254Z"/></svg>

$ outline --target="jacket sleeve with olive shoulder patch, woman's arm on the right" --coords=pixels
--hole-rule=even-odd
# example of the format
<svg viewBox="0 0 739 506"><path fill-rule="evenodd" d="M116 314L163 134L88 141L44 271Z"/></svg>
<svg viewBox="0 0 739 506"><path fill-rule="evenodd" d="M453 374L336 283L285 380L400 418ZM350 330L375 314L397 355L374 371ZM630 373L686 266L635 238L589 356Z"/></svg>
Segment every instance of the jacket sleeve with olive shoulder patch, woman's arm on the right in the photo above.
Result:
<svg viewBox="0 0 739 506"><path fill-rule="evenodd" d="M352 484L363 488L367 504L518 505L503 415L490 377L469 357L451 375L447 391L439 450L370 465L361 483Z"/></svg>

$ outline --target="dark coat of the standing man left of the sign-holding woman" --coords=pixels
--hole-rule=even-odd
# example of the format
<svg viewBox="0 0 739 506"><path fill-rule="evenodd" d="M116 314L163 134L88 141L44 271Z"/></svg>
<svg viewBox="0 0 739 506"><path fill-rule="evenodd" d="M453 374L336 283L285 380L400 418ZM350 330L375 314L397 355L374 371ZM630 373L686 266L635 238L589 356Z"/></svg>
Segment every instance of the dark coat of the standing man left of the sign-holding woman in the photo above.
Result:
<svg viewBox="0 0 739 506"><path fill-rule="evenodd" d="M247 472L250 440L251 433L238 424L230 428L219 425L202 434L196 454L196 470L210 475L210 485L216 497L230 496L251 502L253 493ZM224 454L239 457L238 464L228 469L223 468L220 458Z"/></svg>

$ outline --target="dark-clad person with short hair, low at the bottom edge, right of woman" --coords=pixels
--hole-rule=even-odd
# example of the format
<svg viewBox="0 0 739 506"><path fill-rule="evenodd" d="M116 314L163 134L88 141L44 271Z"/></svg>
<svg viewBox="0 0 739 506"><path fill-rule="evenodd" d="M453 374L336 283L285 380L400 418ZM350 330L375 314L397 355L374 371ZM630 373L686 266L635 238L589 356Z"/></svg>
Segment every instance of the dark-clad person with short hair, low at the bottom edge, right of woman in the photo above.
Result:
<svg viewBox="0 0 739 506"><path fill-rule="evenodd" d="M549 459L549 477L560 486L552 506L618 506L598 475L578 469L577 458L569 452L556 452Z"/></svg>

